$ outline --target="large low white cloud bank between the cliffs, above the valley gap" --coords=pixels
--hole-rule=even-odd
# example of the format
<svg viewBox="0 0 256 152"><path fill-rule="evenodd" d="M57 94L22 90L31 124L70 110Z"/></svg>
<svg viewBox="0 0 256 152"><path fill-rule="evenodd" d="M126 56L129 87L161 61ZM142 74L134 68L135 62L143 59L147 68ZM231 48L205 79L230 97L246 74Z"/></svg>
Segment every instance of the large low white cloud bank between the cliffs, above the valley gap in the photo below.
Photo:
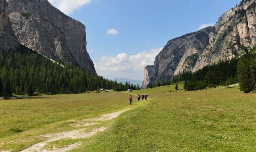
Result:
<svg viewBox="0 0 256 152"><path fill-rule="evenodd" d="M123 77L143 80L144 67L153 65L156 55L162 49L163 47L160 47L130 56L126 53L118 54L116 57L105 55L94 65L97 73L105 78Z"/></svg>

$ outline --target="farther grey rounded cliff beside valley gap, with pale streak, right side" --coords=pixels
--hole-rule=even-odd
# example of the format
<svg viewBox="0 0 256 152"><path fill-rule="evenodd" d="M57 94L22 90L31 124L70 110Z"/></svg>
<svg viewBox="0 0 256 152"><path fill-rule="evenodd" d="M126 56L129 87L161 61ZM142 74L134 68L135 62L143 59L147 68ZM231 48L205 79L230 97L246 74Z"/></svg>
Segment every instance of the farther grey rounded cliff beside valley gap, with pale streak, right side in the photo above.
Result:
<svg viewBox="0 0 256 152"><path fill-rule="evenodd" d="M149 83L163 82L182 71L193 70L199 55L211 43L214 36L215 28L207 27L170 40L156 56Z"/></svg>

